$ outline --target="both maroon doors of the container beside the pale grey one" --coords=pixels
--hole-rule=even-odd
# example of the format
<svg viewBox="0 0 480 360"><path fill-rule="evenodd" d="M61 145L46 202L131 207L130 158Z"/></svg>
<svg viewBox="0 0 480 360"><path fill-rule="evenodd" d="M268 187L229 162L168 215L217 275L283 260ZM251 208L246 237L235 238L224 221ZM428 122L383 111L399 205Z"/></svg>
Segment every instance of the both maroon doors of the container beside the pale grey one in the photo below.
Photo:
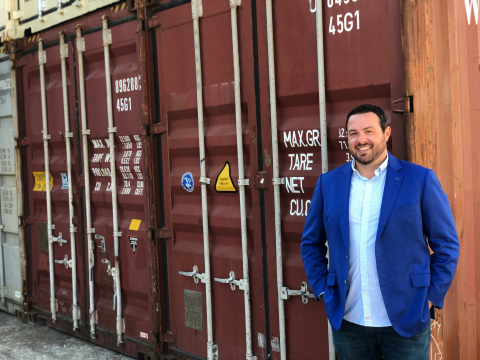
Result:
<svg viewBox="0 0 480 360"><path fill-rule="evenodd" d="M102 16L109 15L111 44L110 77L106 80ZM31 217L29 254L31 263L29 278L33 310L46 318L49 325L67 331L102 346L137 357L154 355L158 341L154 323L157 307L153 305L150 267L150 241L152 224L149 222L146 196L145 127L143 117L144 74L140 63L141 29L135 16L126 10L116 12L108 9L83 17L83 55L77 52L75 27L77 20L62 25L68 47L66 58L66 84L68 116L71 139L72 176L68 178L66 159L66 136L64 125L64 102L62 97L62 73L60 28L42 33L45 44L45 98L48 123L49 164L51 172L53 236L66 240L60 245L53 243L55 261L71 260L70 219L76 227L76 269L72 278L71 267L62 263L50 263L48 259L47 204L45 182L45 159L42 129L42 100L38 42L27 42L27 48L17 61L22 72L22 87L19 96L24 109L24 131L28 139L26 147L25 189L27 206ZM92 30L93 29L93 30ZM107 31L108 32L108 31ZM83 59L85 86L85 114L81 112L79 56ZM114 141L109 141L108 98L106 81L112 88L112 116ZM82 148L81 116L87 121L87 152ZM116 131L115 131L116 130ZM110 148L114 147L114 157ZM88 177L84 172L86 159ZM116 184L112 186L111 162L115 162ZM89 270L89 244L86 213L86 182L89 179L91 204L91 240L93 267ZM73 213L69 213L68 188L73 189ZM117 193L119 234L119 267L114 251L112 192ZM154 213L154 210L153 210ZM150 239L150 240L149 240ZM156 259L156 257L154 257ZM49 269L54 269L54 297L57 322L52 321L50 311ZM115 290L110 267L120 272L121 282ZM107 271L108 270L108 271ZM113 274L115 274L113 273ZM89 278L93 277L93 291L89 291ZM80 325L73 332L73 282L77 284L77 302L80 307ZM152 285L154 284L154 285ZM94 306L90 306L90 295ZM121 326L117 327L117 298L121 296ZM90 337L92 325L90 313L95 312L95 338ZM122 332L123 345L117 345L117 331ZM124 330L123 330L124 329ZM123 332L124 331L124 332ZM140 355L139 355L140 354Z"/></svg>

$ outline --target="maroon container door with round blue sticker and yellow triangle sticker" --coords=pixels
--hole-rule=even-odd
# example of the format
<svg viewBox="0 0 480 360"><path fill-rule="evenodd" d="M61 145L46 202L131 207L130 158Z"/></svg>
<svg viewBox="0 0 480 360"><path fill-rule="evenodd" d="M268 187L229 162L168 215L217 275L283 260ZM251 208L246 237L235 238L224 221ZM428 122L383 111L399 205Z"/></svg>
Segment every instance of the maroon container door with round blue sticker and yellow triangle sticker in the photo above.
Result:
<svg viewBox="0 0 480 360"><path fill-rule="evenodd" d="M255 188L258 156L255 86L253 78L252 14L250 5L238 11L244 146L248 257L251 289L253 352L267 358L262 263L261 208ZM170 352L188 358L207 357L206 284L188 274L205 273L200 164L205 162L208 235L210 244L213 343L219 359L246 355L246 315L243 290L215 279L243 279L238 157L235 126L232 25L228 1L203 3L200 18L204 131L206 156L199 155L197 84L191 4L156 13L158 62L157 122L166 126L159 135L163 186L163 225L172 238L165 240L164 273L167 314L164 327L175 336ZM260 148L260 150L259 150ZM163 174L162 174L163 173ZM220 185L220 186L219 186ZM198 280L198 278L197 278ZM260 343L259 343L260 339ZM259 345L260 344L260 345ZM263 357L262 357L263 355Z"/></svg>

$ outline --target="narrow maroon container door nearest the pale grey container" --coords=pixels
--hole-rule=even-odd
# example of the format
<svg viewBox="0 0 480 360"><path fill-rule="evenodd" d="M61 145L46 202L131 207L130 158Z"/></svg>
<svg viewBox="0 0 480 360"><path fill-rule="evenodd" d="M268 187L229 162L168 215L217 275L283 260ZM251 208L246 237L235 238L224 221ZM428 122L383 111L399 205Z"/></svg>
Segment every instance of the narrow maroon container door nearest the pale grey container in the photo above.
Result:
<svg viewBox="0 0 480 360"><path fill-rule="evenodd" d="M58 34L58 32L57 32ZM82 254L82 208L80 189L78 186L81 161L79 158L79 147L77 143L77 129L75 126L75 73L73 69L72 45L68 44L70 56L66 59L66 83L68 92L68 116L70 131L74 133L71 137L71 162L72 178L67 176L66 158L66 137L64 102L62 90L62 72L60 62L60 47L52 46L45 50L45 84L40 81L40 67L38 52L23 57L22 68L23 83L19 89L24 108L24 130L29 145L25 147L26 164L25 170L28 177L25 184L26 215L31 218L30 248L31 257L29 274L33 286L32 302L34 307L42 311L50 312L50 298L55 298L55 309L58 319L72 320L73 315L73 288L72 281L77 284L77 304L80 308L79 318L85 322L85 288L83 278L84 264L80 256L77 258L77 278L72 280L71 236L70 236L70 212L68 188L73 187L73 225L77 231L76 252ZM44 131L42 124L42 99L41 90L45 89L48 153L50 166L50 179L45 176L45 151ZM28 170L27 170L28 169ZM51 219L53 229L52 243L53 263L49 261L49 239L48 239L48 214L46 188L51 191ZM53 267L54 293L50 291L50 267Z"/></svg>

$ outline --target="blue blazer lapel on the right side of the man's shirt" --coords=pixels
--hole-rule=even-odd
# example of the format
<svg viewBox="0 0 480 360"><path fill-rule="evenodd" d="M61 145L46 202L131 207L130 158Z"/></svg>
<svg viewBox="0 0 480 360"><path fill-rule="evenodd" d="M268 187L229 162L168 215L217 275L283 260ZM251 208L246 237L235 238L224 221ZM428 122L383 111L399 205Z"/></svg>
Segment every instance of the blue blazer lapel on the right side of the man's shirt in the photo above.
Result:
<svg viewBox="0 0 480 360"><path fill-rule="evenodd" d="M383 228L387 223L393 204L397 198L398 190L402 184L403 175L398 171L402 168L396 158L388 153L387 178L385 179L385 189L383 191L382 207L380 210L380 219L378 220L377 238L382 234Z"/></svg>

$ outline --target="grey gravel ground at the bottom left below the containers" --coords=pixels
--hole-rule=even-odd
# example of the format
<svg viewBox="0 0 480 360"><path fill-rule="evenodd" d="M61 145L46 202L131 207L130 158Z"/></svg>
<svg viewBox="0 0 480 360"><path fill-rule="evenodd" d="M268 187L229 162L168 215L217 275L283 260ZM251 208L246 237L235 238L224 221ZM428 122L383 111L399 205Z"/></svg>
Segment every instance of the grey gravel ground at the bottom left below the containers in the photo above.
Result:
<svg viewBox="0 0 480 360"><path fill-rule="evenodd" d="M0 311L0 359L114 359L131 357L104 349L46 325L23 324L16 316Z"/></svg>

